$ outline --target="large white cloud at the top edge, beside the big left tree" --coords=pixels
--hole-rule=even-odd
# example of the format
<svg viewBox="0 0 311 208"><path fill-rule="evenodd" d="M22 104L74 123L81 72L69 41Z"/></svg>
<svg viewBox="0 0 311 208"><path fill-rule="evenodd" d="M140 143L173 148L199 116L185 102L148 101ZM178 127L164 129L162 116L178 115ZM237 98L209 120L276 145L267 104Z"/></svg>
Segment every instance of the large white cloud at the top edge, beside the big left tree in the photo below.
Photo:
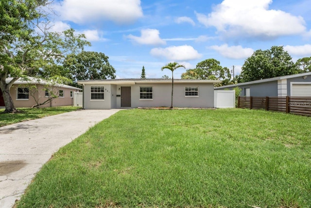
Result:
<svg viewBox="0 0 311 208"><path fill-rule="evenodd" d="M75 23L112 20L131 23L143 16L140 0L63 0L54 7L61 18Z"/></svg>

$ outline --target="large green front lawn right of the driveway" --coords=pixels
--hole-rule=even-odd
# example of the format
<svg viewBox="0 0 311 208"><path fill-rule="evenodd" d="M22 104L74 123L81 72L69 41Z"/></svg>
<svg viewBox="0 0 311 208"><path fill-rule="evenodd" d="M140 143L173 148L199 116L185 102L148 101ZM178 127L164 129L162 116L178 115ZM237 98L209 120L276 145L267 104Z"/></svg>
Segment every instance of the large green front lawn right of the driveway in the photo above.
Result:
<svg viewBox="0 0 311 208"><path fill-rule="evenodd" d="M120 111L55 153L17 207L309 207L310 126L245 109Z"/></svg>

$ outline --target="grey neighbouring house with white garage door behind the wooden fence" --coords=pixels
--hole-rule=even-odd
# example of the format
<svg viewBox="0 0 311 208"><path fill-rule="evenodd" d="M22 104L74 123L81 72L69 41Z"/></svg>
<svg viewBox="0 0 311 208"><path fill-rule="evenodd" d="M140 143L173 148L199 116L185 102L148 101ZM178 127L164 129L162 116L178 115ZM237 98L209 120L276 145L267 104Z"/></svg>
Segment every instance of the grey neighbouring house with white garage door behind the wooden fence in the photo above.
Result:
<svg viewBox="0 0 311 208"><path fill-rule="evenodd" d="M216 87L215 90L242 89L240 96L311 96L311 72L278 76Z"/></svg>

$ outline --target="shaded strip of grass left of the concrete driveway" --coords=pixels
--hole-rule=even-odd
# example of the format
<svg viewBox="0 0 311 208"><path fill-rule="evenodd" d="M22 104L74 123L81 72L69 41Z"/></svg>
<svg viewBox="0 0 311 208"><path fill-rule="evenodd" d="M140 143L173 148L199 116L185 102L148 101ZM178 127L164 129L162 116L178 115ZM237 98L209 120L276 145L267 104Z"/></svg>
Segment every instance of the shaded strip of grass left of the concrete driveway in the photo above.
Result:
<svg viewBox="0 0 311 208"><path fill-rule="evenodd" d="M0 109L0 127L36 118L42 118L45 116L75 111L77 109L79 108L71 106L51 108L18 108L20 113L2 113L5 109Z"/></svg>

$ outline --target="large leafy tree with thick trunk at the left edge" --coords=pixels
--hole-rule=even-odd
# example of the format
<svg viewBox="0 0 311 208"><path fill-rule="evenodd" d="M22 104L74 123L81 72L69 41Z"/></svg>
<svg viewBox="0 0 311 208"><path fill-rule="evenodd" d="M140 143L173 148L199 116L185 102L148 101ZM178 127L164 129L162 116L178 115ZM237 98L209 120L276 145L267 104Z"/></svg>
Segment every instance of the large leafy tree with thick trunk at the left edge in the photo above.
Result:
<svg viewBox="0 0 311 208"><path fill-rule="evenodd" d="M89 42L73 29L50 32L49 0L1 0L0 89L5 113L16 113L10 88L19 77L44 71L62 58L83 49ZM9 83L6 78L12 77Z"/></svg>

